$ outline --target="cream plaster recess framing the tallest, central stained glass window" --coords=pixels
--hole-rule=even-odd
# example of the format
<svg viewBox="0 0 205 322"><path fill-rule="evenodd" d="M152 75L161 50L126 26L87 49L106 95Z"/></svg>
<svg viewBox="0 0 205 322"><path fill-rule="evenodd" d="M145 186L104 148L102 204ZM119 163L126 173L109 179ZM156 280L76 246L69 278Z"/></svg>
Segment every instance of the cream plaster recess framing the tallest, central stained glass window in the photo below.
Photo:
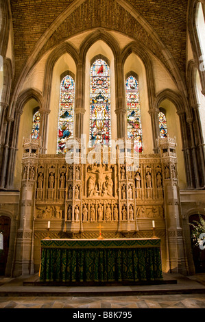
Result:
<svg viewBox="0 0 205 322"><path fill-rule="evenodd" d="M115 75L114 75L114 55L110 47L104 40L97 40L86 53L85 60L85 88L84 88L84 134L86 135L86 142L89 141L90 133L90 78L91 78L91 65L95 59L102 58L106 61L110 68L110 119L111 119L111 138L117 138L117 119L114 112L115 100Z"/></svg>

